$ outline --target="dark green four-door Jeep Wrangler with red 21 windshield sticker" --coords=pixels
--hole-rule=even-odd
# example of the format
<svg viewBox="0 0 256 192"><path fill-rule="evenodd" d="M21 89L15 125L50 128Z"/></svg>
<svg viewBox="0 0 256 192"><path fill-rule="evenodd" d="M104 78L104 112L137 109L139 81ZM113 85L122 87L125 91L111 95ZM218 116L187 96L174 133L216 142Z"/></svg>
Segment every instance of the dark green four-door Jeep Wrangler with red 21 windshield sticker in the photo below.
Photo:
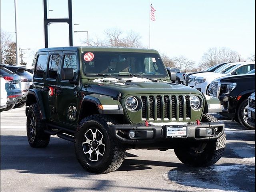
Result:
<svg viewBox="0 0 256 192"><path fill-rule="evenodd" d="M89 172L108 173L126 149L174 149L188 166L216 163L225 148L217 98L174 84L156 50L59 47L38 51L26 100L30 146L51 135L74 142Z"/></svg>

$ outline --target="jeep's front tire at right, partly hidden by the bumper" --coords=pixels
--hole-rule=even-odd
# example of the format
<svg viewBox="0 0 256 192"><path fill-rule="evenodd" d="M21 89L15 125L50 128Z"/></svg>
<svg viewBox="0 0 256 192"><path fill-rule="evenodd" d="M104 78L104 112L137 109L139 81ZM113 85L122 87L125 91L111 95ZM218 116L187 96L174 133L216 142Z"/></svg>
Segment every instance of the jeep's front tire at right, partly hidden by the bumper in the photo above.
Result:
<svg viewBox="0 0 256 192"><path fill-rule="evenodd" d="M218 122L218 120L210 114L203 114L201 122ZM223 134L217 140L205 142L206 146L200 153L192 149L191 146L184 145L175 148L174 152L178 159L187 166L207 167L215 164L221 158L226 146L225 142L226 135Z"/></svg>

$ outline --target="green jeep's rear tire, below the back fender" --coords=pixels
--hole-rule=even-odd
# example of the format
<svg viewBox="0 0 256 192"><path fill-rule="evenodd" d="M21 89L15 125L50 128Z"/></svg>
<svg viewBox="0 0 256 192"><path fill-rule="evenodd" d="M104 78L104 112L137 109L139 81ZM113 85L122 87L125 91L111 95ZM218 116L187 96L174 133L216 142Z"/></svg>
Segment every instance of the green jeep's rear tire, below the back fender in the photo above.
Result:
<svg viewBox="0 0 256 192"><path fill-rule="evenodd" d="M34 128L35 128L35 134L34 138L31 134L31 118L34 115ZM44 132L45 125L41 121L40 118L40 112L38 109L37 104L32 104L28 108L28 114L27 114L27 137L28 137L28 143L33 148L43 148L48 146L50 142L50 134L47 134Z"/></svg>

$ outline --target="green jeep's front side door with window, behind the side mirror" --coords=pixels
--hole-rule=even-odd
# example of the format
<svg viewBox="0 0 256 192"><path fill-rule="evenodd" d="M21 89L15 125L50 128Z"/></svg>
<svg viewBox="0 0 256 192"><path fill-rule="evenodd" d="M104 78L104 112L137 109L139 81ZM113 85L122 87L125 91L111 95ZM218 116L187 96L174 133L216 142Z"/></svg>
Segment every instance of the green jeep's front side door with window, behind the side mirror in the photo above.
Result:
<svg viewBox="0 0 256 192"><path fill-rule="evenodd" d="M78 54L77 52L63 52L61 68L74 68L74 80L78 80ZM78 108L78 85L70 84L67 80L62 80L61 69L58 87L56 88L57 115L59 122L69 125L77 125Z"/></svg>

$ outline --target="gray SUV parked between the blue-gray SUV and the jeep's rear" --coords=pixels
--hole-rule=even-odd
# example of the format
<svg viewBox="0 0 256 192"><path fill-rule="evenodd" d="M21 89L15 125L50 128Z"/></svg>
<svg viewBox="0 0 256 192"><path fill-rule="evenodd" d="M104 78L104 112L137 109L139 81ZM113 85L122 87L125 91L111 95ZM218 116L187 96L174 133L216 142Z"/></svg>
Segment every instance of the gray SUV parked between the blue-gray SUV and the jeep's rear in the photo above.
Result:
<svg viewBox="0 0 256 192"><path fill-rule="evenodd" d="M11 70L20 76L20 88L22 90L22 100L16 103L15 108L20 108L25 105L28 94L28 88L32 85L33 75L26 71L26 66L4 65L5 68Z"/></svg>

